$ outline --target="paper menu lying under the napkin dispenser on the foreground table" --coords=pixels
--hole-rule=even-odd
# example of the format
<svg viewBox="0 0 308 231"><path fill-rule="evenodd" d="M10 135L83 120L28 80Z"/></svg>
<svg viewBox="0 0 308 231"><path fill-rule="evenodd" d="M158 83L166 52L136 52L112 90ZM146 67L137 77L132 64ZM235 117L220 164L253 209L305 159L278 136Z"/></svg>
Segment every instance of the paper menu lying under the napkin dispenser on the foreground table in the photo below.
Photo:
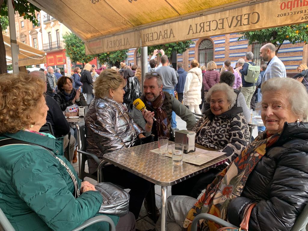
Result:
<svg viewBox="0 0 308 231"><path fill-rule="evenodd" d="M151 150L151 152L157 153L158 148ZM196 148L195 152L183 153L183 162L201 165L205 164L211 160L216 159L217 157L223 156L225 152L217 152L217 151L208 151L201 148ZM168 146L168 153L165 155L172 158L172 146Z"/></svg>

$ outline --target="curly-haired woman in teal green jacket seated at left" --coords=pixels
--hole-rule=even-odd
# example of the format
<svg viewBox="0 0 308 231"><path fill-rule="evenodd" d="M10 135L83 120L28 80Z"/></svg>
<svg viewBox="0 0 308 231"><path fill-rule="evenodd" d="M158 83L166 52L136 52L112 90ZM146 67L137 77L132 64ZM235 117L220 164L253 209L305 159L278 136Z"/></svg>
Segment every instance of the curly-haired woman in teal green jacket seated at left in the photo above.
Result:
<svg viewBox="0 0 308 231"><path fill-rule="evenodd" d="M48 111L45 87L35 76L0 75L0 207L15 230L72 230L100 215L103 202L63 156L63 137L39 132ZM135 230L131 213L107 216L117 228L124 220ZM84 230L107 231L109 225Z"/></svg>

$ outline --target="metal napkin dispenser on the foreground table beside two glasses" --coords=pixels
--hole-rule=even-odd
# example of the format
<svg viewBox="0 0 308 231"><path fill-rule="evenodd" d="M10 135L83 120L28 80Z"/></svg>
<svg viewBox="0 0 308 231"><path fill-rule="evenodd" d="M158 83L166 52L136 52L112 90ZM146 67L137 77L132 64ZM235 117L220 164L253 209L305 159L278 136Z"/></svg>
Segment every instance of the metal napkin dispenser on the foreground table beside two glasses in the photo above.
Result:
<svg viewBox="0 0 308 231"><path fill-rule="evenodd" d="M196 138L196 132L187 131L187 130L175 131L175 143L183 144L184 153L196 151L195 138Z"/></svg>

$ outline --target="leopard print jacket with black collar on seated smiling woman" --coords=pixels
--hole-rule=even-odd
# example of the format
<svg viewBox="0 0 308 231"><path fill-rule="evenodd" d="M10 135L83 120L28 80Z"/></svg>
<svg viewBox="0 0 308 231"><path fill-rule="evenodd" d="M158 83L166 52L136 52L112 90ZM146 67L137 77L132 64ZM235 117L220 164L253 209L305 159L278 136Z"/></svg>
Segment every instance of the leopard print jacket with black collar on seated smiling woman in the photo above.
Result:
<svg viewBox="0 0 308 231"><path fill-rule="evenodd" d="M197 144L225 152L229 163L249 144L249 128L241 107L233 107L217 116L209 109L192 131L197 132Z"/></svg>

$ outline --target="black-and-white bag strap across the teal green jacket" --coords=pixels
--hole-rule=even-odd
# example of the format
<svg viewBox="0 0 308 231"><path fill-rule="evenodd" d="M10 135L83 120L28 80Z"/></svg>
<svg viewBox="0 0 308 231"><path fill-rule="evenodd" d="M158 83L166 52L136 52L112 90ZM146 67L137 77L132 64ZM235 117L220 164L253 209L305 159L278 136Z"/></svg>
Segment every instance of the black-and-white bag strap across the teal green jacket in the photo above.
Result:
<svg viewBox="0 0 308 231"><path fill-rule="evenodd" d="M7 138L7 139L0 140L0 147L5 146L5 145L16 145L16 144L34 145L34 146L39 146L39 147L46 149L53 157L55 157L60 162L60 164L62 164L66 168L68 174L71 176L71 179L72 179L72 181L74 183L74 187L75 187L75 198L80 196L78 181L77 181L74 173L67 166L67 164L65 164L65 162L63 160L61 160L59 157L55 156L55 154L52 153L48 148L45 148L44 146L39 145L39 144L33 144L33 143L30 143L30 142L26 142L26 141L22 141L22 140L16 140L16 139L13 139L13 138Z"/></svg>

